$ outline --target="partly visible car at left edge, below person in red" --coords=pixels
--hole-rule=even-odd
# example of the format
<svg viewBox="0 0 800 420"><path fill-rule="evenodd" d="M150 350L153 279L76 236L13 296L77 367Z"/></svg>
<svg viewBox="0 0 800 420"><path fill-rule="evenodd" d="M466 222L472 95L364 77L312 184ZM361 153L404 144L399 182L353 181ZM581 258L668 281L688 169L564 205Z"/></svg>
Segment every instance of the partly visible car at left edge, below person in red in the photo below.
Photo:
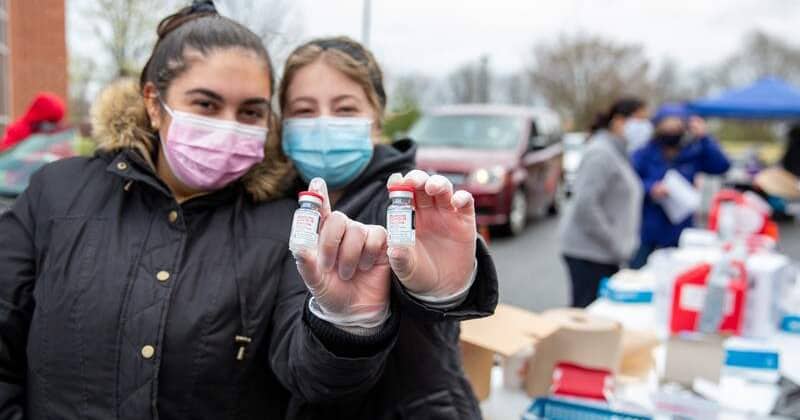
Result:
<svg viewBox="0 0 800 420"><path fill-rule="evenodd" d="M81 152L81 140L75 131L34 134L13 149L0 154L0 213L11 206L14 198L25 191L28 181L47 163L76 156Z"/></svg>

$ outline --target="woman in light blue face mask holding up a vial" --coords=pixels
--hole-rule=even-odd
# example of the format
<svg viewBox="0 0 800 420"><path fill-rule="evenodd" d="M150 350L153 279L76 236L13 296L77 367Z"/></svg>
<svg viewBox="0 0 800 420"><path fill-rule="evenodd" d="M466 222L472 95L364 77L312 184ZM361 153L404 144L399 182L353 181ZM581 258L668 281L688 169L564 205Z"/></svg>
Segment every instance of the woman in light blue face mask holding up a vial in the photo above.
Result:
<svg viewBox="0 0 800 420"><path fill-rule="evenodd" d="M282 143L297 172L296 189L325 179L333 210L385 225L387 185L405 184L415 189L416 211L415 245L386 250L392 301L402 317L378 383L336 405L295 399L287 418L480 418L461 368L458 322L493 312L497 277L477 239L472 197L453 192L444 177L415 170L412 141L382 144L383 77L362 45L343 37L314 40L297 48L284 69ZM346 274L361 269L354 263Z"/></svg>

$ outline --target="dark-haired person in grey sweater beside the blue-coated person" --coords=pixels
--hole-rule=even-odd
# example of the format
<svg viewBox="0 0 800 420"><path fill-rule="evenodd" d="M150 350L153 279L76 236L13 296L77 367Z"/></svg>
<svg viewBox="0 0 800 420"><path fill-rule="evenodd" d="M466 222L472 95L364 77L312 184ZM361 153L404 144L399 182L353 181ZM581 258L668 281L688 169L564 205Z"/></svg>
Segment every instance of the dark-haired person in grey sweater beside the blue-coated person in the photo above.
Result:
<svg viewBox="0 0 800 420"><path fill-rule="evenodd" d="M625 133L645 108L639 99L620 99L592 127L573 203L561 226L574 307L592 303L600 281L616 273L636 250L642 187L628 160Z"/></svg>

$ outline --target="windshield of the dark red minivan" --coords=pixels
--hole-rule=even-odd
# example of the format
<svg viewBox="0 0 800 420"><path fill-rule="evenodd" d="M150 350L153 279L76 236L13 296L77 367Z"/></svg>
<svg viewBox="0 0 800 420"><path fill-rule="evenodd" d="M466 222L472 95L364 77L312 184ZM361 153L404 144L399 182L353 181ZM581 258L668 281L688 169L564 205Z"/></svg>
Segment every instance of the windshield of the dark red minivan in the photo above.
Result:
<svg viewBox="0 0 800 420"><path fill-rule="evenodd" d="M496 115L433 115L420 119L409 136L420 147L511 149L522 136L522 119Z"/></svg>

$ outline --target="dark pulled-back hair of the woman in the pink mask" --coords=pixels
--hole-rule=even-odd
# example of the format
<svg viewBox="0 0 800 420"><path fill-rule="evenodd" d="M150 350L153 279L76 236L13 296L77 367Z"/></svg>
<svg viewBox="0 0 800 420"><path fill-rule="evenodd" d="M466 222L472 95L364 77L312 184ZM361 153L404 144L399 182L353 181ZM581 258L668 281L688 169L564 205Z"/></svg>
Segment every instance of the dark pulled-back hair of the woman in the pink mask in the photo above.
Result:
<svg viewBox="0 0 800 420"><path fill-rule="evenodd" d="M242 24L219 15L211 0L195 0L191 6L167 16L158 24L158 41L139 78L139 86L151 82L164 93L170 83L187 70L184 54L195 50L207 55L217 48L242 48L262 58L269 69L270 87L275 75L269 53L261 39Z"/></svg>

